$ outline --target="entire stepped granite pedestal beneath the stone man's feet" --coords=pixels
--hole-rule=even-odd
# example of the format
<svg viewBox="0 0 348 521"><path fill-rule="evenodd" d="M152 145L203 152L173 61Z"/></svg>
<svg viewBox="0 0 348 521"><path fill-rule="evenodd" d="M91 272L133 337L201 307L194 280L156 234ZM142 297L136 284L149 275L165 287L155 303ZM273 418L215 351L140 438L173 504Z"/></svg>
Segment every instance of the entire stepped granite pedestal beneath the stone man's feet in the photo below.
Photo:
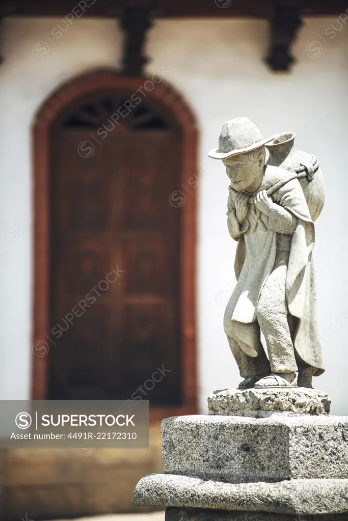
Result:
<svg viewBox="0 0 348 521"><path fill-rule="evenodd" d="M325 393L225 390L208 404L163 421L164 474L142 478L134 504L166 506L167 521L348 521L348 418L328 415Z"/></svg>

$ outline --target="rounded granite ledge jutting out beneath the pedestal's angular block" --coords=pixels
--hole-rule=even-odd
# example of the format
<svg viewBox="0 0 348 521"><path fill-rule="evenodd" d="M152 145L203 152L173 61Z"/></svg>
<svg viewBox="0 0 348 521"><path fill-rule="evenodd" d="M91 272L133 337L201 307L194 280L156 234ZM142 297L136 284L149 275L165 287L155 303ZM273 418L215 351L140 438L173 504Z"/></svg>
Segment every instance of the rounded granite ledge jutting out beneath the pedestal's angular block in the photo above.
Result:
<svg viewBox="0 0 348 521"><path fill-rule="evenodd" d="M348 480L294 479L235 484L151 474L139 481L133 503L297 516L332 515L348 513Z"/></svg>

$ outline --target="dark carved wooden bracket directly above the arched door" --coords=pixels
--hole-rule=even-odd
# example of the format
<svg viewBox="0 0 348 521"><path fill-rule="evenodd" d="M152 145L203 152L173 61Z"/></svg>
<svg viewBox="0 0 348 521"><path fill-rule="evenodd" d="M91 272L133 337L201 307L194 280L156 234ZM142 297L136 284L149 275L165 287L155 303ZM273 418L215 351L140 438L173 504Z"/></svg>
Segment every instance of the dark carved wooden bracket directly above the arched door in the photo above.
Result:
<svg viewBox="0 0 348 521"><path fill-rule="evenodd" d="M144 56L146 31L152 26L149 7L126 7L120 19L125 32L121 72L125 76L143 76L148 58Z"/></svg>

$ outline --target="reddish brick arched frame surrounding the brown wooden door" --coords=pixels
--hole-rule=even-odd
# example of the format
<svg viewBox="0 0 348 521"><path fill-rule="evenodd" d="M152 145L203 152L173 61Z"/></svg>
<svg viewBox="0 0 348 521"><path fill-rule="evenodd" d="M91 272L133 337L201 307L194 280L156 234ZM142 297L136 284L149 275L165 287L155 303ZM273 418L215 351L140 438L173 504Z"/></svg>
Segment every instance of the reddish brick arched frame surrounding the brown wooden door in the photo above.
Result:
<svg viewBox="0 0 348 521"><path fill-rule="evenodd" d="M181 207L181 345L182 396L180 408L154 408L153 420L197 412L196 350L196 190L187 189L197 170L197 125L192 110L172 86L153 78L127 78L111 70L85 73L60 86L36 113L32 128L34 172L34 294L32 399L46 398L49 351L49 128L61 110L80 97L100 90L144 92L176 120L182 132L181 187L173 195ZM148 85L146 87L146 82ZM149 86L151 84L151 89ZM142 90L141 90L142 89ZM183 188L184 191L180 190ZM187 193L188 192L188 193ZM168 204L169 203L168 194Z"/></svg>

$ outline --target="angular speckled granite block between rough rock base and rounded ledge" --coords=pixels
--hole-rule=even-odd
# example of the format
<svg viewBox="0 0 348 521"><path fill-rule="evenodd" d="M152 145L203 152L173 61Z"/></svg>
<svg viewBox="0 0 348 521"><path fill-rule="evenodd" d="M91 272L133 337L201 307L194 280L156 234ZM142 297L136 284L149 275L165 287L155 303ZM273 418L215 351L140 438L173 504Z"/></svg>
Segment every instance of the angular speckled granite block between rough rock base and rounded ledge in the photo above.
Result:
<svg viewBox="0 0 348 521"><path fill-rule="evenodd" d="M166 418L162 454L167 473L231 483L348 478L348 418Z"/></svg>

